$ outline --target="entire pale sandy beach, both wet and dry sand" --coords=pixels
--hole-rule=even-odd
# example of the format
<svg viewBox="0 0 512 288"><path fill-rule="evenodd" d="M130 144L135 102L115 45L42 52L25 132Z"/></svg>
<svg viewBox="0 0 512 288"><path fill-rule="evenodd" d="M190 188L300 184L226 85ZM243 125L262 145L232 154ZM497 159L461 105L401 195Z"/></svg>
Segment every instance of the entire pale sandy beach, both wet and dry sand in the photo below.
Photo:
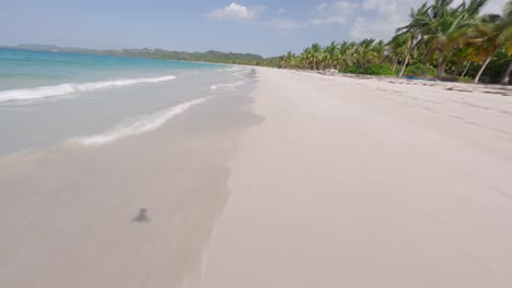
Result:
<svg viewBox="0 0 512 288"><path fill-rule="evenodd" d="M510 86L255 70L0 158L0 287L510 287Z"/></svg>

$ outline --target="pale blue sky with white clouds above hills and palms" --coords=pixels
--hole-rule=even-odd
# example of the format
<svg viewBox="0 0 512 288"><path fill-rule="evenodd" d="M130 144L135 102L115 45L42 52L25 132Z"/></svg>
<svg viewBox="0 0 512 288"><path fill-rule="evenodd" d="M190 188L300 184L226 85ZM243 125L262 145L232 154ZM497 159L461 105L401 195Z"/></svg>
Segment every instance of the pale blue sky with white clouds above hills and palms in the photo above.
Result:
<svg viewBox="0 0 512 288"><path fill-rule="evenodd" d="M265 57L389 39L426 0L0 0L0 45L221 50ZM459 3L463 0L455 0ZM482 13L500 13L489 0Z"/></svg>

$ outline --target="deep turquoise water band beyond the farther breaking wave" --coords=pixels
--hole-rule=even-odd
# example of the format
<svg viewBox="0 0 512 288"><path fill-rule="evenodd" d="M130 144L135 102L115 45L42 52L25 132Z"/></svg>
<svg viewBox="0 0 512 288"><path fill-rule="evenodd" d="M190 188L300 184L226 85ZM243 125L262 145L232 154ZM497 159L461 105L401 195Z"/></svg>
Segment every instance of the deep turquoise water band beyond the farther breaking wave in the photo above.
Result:
<svg viewBox="0 0 512 288"><path fill-rule="evenodd" d="M221 65L112 56L0 49L0 91L72 82L154 77Z"/></svg>

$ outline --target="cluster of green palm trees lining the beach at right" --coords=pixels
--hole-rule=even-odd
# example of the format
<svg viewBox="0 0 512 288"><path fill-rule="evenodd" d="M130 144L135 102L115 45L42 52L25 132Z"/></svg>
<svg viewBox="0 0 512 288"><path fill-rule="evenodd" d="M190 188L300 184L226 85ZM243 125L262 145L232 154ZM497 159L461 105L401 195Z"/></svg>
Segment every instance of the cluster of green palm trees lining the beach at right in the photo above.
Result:
<svg viewBox="0 0 512 288"><path fill-rule="evenodd" d="M302 53L280 57L282 68L337 71L368 65L386 65L402 76L408 65L435 68L438 77L467 76L469 67L477 83L497 53L508 57L500 83L508 84L512 70L512 0L501 15L480 15L488 0L434 0L410 12L410 22L396 29L388 43L363 39L359 43L318 44Z"/></svg>

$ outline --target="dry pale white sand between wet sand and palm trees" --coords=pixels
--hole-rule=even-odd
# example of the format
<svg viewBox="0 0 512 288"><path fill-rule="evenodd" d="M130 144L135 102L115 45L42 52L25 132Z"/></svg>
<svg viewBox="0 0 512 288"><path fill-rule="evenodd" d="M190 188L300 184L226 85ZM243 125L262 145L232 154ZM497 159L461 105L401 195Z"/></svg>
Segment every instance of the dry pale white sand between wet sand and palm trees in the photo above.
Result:
<svg viewBox="0 0 512 288"><path fill-rule="evenodd" d="M512 287L510 87L258 74L202 287Z"/></svg>

